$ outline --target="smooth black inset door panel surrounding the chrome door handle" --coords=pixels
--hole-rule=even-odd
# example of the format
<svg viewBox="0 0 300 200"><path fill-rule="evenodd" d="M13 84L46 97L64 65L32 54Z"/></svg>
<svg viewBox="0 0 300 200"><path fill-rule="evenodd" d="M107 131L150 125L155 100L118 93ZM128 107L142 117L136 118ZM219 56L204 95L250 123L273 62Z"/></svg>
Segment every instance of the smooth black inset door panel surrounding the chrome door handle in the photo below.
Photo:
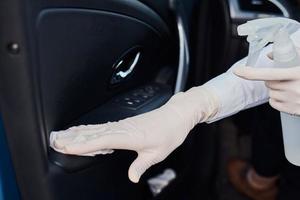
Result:
<svg viewBox="0 0 300 200"><path fill-rule="evenodd" d="M37 21L47 132L130 86L154 79L161 67L160 33L134 18L96 10L48 9ZM122 70L115 69L115 63L134 47L141 54L135 69L113 85L110 80Z"/></svg>

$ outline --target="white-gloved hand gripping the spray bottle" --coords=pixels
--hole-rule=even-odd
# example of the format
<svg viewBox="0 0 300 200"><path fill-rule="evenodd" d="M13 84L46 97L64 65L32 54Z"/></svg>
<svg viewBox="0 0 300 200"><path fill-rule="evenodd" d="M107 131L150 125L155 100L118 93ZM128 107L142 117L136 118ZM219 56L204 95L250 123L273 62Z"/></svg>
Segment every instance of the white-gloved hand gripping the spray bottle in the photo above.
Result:
<svg viewBox="0 0 300 200"><path fill-rule="evenodd" d="M300 66L291 68L240 67L234 73L248 80L265 81L270 105L285 113L300 115Z"/></svg>

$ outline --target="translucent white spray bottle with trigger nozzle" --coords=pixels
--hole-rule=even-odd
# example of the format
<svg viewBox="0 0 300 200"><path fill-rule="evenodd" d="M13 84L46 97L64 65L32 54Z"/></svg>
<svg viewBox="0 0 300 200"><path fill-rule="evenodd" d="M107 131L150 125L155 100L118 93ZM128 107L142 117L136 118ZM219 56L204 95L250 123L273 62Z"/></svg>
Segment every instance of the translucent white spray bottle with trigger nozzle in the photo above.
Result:
<svg viewBox="0 0 300 200"><path fill-rule="evenodd" d="M250 43L247 66L256 66L262 49L273 43L274 67L300 66L300 57L290 35L300 24L287 18L266 18L249 21L238 27L238 34L248 35ZM300 166L300 117L281 112L285 156L289 162Z"/></svg>

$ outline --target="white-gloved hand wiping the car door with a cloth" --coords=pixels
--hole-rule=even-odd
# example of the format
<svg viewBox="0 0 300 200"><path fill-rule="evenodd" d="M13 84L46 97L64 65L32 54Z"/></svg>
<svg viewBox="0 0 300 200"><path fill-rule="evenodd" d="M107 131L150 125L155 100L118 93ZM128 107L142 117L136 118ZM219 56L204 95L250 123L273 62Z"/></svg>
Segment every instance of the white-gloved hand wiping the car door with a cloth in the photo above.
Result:
<svg viewBox="0 0 300 200"><path fill-rule="evenodd" d="M174 95L154 111L119 122L72 127L52 132L50 146L74 155L110 153L110 149L127 149L138 153L128 176L138 182L152 165L164 160L183 143L190 130L212 117L218 99L205 87L195 87Z"/></svg>

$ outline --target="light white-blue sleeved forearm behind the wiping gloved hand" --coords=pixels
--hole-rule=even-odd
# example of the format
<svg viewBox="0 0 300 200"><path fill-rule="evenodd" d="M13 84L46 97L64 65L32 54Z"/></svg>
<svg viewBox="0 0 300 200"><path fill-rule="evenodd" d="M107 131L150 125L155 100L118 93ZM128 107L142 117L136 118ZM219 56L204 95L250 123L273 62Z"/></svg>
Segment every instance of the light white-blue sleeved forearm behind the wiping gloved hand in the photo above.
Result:
<svg viewBox="0 0 300 200"><path fill-rule="evenodd" d="M232 70L245 65L246 59L237 62L227 72L208 81L203 87L214 93L219 100L217 113L207 120L214 122L247 108L268 101L268 90L262 81L248 81L237 77Z"/></svg>

